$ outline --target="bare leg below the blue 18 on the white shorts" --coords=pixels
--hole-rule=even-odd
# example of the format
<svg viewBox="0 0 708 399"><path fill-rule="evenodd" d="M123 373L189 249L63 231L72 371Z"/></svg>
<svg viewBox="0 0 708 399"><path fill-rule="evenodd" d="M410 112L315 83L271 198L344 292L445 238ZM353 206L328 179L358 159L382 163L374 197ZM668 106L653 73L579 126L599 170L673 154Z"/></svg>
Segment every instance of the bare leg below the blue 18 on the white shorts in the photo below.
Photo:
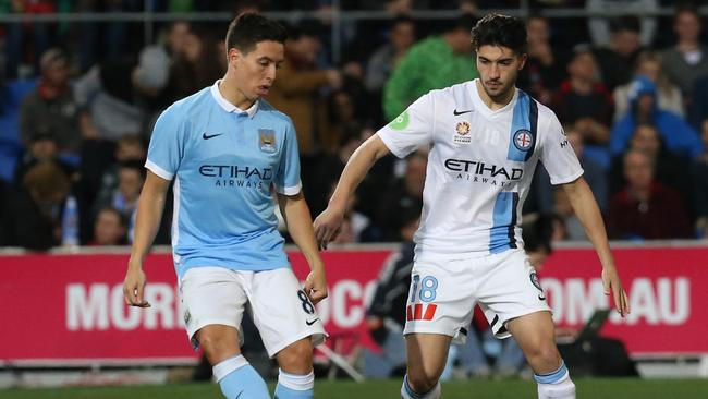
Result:
<svg viewBox="0 0 708 399"><path fill-rule="evenodd" d="M401 397L439 398L439 379L445 366L452 337L440 334L408 334L405 341L408 361Z"/></svg>

